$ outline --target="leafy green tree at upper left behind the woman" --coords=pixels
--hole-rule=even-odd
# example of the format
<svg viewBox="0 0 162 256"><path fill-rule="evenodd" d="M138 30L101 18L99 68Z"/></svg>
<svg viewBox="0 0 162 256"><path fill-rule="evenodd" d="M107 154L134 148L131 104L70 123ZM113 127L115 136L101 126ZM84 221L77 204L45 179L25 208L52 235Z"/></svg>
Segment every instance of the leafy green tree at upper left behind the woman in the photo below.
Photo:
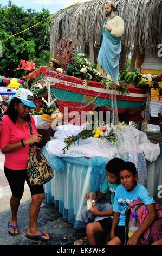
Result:
<svg viewBox="0 0 162 256"><path fill-rule="evenodd" d="M46 19L50 13L46 9L36 12L27 11L8 3L8 7L0 5L0 42L3 47L3 57L0 57L0 74L6 77L22 77L21 71L12 71L18 67L21 60L33 60L37 65L49 63L49 20L38 24L8 39L9 36L27 29Z"/></svg>

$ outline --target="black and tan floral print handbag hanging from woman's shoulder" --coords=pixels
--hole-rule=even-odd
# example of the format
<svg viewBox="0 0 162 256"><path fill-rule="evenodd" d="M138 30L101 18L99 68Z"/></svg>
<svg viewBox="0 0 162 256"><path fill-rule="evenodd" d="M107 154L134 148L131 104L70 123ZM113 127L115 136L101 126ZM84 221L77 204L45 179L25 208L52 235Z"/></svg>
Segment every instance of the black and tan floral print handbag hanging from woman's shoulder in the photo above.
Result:
<svg viewBox="0 0 162 256"><path fill-rule="evenodd" d="M31 120L29 121L29 127L30 135L32 135ZM31 144L29 149L27 173L31 186L43 185L54 176L51 166L42 151L37 151L37 156L35 155L34 144Z"/></svg>

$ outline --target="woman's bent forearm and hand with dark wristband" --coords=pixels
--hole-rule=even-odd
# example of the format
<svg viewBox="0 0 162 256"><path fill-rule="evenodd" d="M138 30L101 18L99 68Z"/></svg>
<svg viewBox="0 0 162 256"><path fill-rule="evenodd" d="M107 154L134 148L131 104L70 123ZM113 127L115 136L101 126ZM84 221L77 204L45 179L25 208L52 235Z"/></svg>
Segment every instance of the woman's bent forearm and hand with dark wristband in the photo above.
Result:
<svg viewBox="0 0 162 256"><path fill-rule="evenodd" d="M24 143L24 145L30 145L35 142L40 142L41 137L42 137L42 135L40 135L40 134L32 135L30 138L24 139L23 143ZM3 154L6 154L6 153L10 153L10 152L16 151L21 148L23 148L23 145L20 141L20 142L16 142L16 143L8 143L7 145L5 145L5 147L1 151Z"/></svg>

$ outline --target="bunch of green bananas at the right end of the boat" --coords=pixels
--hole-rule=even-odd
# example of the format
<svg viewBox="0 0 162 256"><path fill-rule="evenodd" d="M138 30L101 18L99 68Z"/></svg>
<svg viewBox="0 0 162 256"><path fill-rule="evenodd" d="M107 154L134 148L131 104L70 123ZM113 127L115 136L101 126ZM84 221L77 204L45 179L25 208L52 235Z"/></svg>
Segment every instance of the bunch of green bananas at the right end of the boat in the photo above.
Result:
<svg viewBox="0 0 162 256"><path fill-rule="evenodd" d="M135 72L123 71L121 72L119 82L125 81L126 83L134 83L137 86L146 86L146 83L141 80L141 76Z"/></svg>

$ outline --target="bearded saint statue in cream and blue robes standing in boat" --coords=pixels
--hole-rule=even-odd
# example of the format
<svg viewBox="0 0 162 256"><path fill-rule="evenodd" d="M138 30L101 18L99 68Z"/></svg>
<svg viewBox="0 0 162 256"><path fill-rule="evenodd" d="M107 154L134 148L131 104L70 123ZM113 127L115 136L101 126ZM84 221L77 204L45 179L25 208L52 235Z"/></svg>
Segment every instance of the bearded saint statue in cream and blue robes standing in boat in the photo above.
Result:
<svg viewBox="0 0 162 256"><path fill-rule="evenodd" d="M98 54L98 71L101 76L119 84L119 60L121 36L124 34L124 20L115 15L114 2L105 4L106 21L102 30L102 44Z"/></svg>

